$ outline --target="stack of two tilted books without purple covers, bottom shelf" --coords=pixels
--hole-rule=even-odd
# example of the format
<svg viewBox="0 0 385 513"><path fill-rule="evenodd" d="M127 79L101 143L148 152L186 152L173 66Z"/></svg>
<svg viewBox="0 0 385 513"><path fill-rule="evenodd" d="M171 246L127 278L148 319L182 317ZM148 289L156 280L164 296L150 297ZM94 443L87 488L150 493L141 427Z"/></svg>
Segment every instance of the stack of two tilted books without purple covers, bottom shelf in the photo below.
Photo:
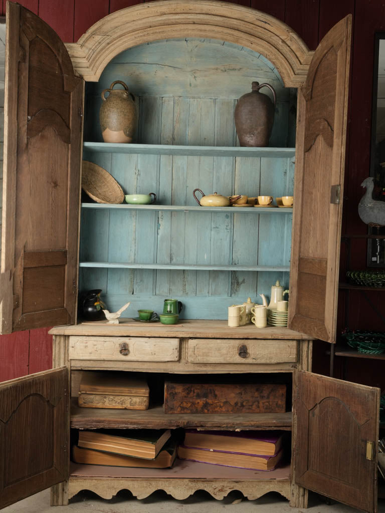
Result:
<svg viewBox="0 0 385 513"><path fill-rule="evenodd" d="M73 447L75 463L119 467L171 467L177 444L169 429L99 429L79 431Z"/></svg>

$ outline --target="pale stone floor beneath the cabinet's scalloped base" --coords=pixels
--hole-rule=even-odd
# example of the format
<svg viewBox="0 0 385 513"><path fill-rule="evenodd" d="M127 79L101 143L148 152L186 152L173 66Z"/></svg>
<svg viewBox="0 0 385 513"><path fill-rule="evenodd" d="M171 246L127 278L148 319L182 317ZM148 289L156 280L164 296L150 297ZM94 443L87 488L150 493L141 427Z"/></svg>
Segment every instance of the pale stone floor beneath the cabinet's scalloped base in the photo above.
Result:
<svg viewBox="0 0 385 513"><path fill-rule="evenodd" d="M49 490L42 491L2 510L2 513L357 513L357 509L332 502L327 504L324 497L316 494L309 496L308 509L295 509L280 495L272 492L255 501L243 499L237 491L231 492L225 499L218 501L207 492L197 491L183 501L157 491L143 500L132 497L130 492L121 491L111 500L104 500L90 491L83 491L70 500L68 506L52 509L49 505ZM385 513L385 500L380 500L378 513Z"/></svg>

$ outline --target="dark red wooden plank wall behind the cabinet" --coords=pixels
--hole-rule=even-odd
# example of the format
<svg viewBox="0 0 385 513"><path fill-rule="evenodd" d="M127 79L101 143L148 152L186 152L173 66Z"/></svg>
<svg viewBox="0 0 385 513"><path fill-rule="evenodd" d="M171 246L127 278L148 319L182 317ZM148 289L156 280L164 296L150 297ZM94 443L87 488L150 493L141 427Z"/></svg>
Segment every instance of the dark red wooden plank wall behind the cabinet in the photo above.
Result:
<svg viewBox="0 0 385 513"><path fill-rule="evenodd" d="M1 0L5 14L5 0ZM145 0L144 0L145 1ZM77 41L93 23L142 0L18 0L41 16L56 30L65 42ZM374 33L385 30L385 6L382 0L237 0L234 3L262 10L281 19L315 49L323 35L343 16L353 14L352 74L348 120L347 159L345 173L345 200L343 233L366 232L358 218L357 204L363 193L362 180L369 175L371 141L371 108L373 80ZM355 242L352 266L364 268L366 242ZM344 248L341 248L341 275L345 272ZM381 298L373 298L373 301ZM380 320L368 308L359 294L350 301L352 328L381 329ZM339 302L339 326L343 326L344 296ZM318 358L324 353L321 344L315 348L317 369L327 373L326 360ZM20 332L0 338L0 381L22 376L50 367L51 338L47 330ZM361 361L362 363L362 361ZM320 367L320 368L318 368Z"/></svg>

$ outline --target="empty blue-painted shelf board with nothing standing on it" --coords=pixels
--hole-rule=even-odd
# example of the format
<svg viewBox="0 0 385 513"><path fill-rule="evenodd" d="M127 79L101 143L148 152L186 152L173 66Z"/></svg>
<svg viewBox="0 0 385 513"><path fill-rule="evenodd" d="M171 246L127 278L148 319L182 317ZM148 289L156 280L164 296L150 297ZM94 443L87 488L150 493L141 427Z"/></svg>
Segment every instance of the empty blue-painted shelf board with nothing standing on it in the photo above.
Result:
<svg viewBox="0 0 385 513"><path fill-rule="evenodd" d="M79 267L103 269L170 269L185 271L290 271L288 265L129 264L127 262L79 262Z"/></svg>

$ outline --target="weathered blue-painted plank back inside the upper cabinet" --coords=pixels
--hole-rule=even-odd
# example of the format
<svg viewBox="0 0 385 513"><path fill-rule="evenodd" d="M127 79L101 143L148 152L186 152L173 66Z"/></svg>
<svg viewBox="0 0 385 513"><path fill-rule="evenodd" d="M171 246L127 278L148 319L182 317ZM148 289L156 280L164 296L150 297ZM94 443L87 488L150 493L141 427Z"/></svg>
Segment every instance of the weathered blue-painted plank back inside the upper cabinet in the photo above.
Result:
<svg viewBox="0 0 385 513"><path fill-rule="evenodd" d="M295 93L285 89L271 63L237 45L214 40L170 40L141 45L114 58L99 83L87 84L85 141L102 141L101 91L115 80L138 97L136 142L200 146L239 145L234 108L251 82L272 84L277 106L270 146L293 146ZM264 88L261 92L268 93ZM293 194L294 158L120 154L84 151L126 194L157 194L163 205L196 205L205 194ZM289 265L291 214L249 214L83 209L81 261ZM276 280L288 287L288 272L81 268L81 289L101 288L110 310L131 301L162 310L163 300L184 303L181 317L226 319L227 306L259 293L269 296ZM261 299L258 301L261 303Z"/></svg>

